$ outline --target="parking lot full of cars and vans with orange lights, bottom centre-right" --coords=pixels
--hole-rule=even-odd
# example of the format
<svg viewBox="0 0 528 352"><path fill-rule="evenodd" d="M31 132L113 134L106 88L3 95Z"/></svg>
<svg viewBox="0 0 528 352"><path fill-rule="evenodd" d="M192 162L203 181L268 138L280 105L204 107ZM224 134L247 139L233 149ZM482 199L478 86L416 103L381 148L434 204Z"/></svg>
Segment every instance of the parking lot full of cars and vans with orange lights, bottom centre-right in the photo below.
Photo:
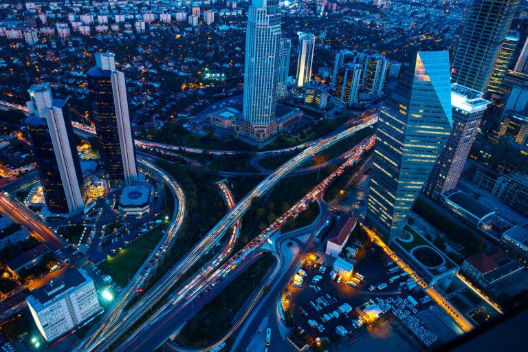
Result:
<svg viewBox="0 0 528 352"><path fill-rule="evenodd" d="M354 344L357 349L366 341L370 344L372 339L382 338L406 351L434 347L455 337L443 322L432 325L435 331L424 326L419 318L421 312L427 319L439 320L437 311L430 313L430 297L412 278L400 276L403 272L392 269L396 265L385 263L374 250L368 250L356 263L350 285L338 283L337 278L332 280L335 258L321 251L316 255L320 257L318 263L305 262L300 267L302 286L294 286L292 280L286 295L296 325L307 332L308 340L320 338L338 343L340 348Z"/></svg>

